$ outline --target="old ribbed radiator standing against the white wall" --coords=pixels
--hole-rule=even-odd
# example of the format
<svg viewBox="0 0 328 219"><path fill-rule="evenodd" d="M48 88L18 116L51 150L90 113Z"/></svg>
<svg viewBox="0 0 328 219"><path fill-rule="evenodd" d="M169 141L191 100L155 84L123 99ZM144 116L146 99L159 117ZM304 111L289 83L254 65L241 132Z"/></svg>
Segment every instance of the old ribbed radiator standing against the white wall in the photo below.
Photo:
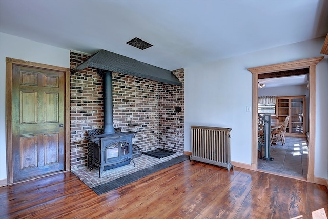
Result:
<svg viewBox="0 0 328 219"><path fill-rule="evenodd" d="M226 167L228 171L234 166L230 163L231 128L191 126L192 155L190 161L201 161Z"/></svg>

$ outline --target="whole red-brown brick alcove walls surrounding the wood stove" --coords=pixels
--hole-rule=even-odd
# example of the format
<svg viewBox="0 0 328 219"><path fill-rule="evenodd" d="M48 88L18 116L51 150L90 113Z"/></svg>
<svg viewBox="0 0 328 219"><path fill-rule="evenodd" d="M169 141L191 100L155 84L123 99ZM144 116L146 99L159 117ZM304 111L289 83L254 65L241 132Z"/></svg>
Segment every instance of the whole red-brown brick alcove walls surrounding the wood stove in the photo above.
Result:
<svg viewBox="0 0 328 219"><path fill-rule="evenodd" d="M88 55L70 53L71 69ZM184 83L185 70L173 71ZM103 83L96 69L86 68L70 77L70 164L87 165L88 130L103 128ZM184 87L113 72L113 123L121 131L135 131L141 151L163 148L183 153ZM175 107L181 112L175 112Z"/></svg>

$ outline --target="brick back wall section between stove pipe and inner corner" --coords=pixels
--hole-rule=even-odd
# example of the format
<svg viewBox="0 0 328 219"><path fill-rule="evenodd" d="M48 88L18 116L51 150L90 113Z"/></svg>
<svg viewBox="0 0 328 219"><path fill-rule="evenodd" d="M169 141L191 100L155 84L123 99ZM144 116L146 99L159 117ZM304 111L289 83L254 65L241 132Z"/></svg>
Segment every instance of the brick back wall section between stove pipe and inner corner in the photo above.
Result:
<svg viewBox="0 0 328 219"><path fill-rule="evenodd" d="M133 144L141 151L158 146L158 82L113 73L113 123L138 132Z"/></svg>

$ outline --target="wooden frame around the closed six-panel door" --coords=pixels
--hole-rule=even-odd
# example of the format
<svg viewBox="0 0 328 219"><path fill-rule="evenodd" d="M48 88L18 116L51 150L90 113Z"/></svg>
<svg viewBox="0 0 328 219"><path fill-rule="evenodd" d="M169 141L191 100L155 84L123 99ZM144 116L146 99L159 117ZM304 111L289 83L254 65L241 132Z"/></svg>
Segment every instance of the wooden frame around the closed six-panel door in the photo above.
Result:
<svg viewBox="0 0 328 219"><path fill-rule="evenodd" d="M64 67L58 67L53 65L47 65L42 63L35 63L24 61L15 58L6 57L6 157L7 157L7 184L14 184L13 178L13 160L12 160L12 67L13 65L43 68L52 71L64 72L64 170L58 172L65 172L70 170L70 69ZM58 173L55 172L55 173ZM55 173L49 173L42 176L34 177L40 178ZM34 178L29 178L32 180ZM27 180L26 180L27 181ZM23 182L23 181L19 181ZM16 183L16 182L15 182Z"/></svg>

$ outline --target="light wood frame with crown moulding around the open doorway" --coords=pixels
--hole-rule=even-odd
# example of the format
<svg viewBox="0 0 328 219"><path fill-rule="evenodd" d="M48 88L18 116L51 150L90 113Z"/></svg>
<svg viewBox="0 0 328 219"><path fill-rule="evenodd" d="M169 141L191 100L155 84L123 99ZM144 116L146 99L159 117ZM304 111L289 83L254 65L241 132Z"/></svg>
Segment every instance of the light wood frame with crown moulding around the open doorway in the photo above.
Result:
<svg viewBox="0 0 328 219"><path fill-rule="evenodd" d="M254 68L248 68L252 73L252 170L257 170L257 97L258 97L258 75L309 68L309 162L308 162L308 177L307 181L314 183L314 152L315 152L315 128L316 128L316 65L324 58L324 56L315 58L300 59L297 61L278 63L273 65L265 65Z"/></svg>

